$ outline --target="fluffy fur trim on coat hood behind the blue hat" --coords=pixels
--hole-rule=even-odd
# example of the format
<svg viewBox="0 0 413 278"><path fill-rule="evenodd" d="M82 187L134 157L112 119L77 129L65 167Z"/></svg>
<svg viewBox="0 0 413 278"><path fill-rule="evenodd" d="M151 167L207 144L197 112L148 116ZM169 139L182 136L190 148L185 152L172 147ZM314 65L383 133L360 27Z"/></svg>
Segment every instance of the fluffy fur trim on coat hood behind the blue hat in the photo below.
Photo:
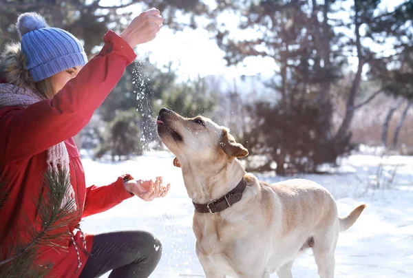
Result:
<svg viewBox="0 0 413 278"><path fill-rule="evenodd" d="M35 90L34 81L26 69L25 55L19 43L9 43L0 56L0 74L5 83Z"/></svg>

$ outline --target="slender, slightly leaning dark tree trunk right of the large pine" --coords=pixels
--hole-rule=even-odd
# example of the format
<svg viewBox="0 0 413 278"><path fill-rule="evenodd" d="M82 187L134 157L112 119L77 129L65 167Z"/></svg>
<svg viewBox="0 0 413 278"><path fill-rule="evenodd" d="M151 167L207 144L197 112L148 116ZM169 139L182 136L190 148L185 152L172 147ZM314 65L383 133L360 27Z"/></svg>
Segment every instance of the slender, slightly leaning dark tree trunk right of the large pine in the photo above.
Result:
<svg viewBox="0 0 413 278"><path fill-rule="evenodd" d="M350 125L352 122L352 118L354 116L354 100L356 99L357 93L359 92L359 87L361 83L361 73L363 72L363 65L365 63L363 54L361 53L361 41L360 41L360 25L361 21L359 19L359 3L358 0L354 0L354 26L355 26L355 33L356 33L356 47L357 47L357 58L359 58L359 66L357 67L357 73L354 76L354 80L352 83L352 87L350 90L350 95L348 96L347 100L347 109L346 115L344 116L343 122L341 122L341 126L339 131L337 131L335 135L335 140L343 140L348 135L348 130L350 129Z"/></svg>

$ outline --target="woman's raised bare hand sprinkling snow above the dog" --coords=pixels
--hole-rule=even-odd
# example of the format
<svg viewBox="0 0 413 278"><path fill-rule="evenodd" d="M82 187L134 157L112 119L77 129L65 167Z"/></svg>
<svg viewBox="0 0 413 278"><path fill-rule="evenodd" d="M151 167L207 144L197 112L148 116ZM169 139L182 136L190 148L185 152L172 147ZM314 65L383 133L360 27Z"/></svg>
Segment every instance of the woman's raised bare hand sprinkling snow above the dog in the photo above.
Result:
<svg viewBox="0 0 413 278"><path fill-rule="evenodd" d="M120 36L134 48L136 45L155 39L162 22L160 11L152 8L135 17Z"/></svg>

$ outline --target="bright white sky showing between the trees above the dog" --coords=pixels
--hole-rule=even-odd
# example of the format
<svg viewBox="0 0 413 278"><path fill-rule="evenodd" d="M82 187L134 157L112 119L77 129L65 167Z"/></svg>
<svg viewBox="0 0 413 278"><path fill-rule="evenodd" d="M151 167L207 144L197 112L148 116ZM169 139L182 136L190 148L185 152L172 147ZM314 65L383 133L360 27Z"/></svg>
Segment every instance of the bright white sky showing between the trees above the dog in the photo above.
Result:
<svg viewBox="0 0 413 278"><path fill-rule="evenodd" d="M208 0L213 2L212 0ZM383 0L381 9L392 8L405 0ZM207 2L207 1L206 1ZM345 1L343 1L344 3ZM109 5L108 5L109 6ZM139 13L140 11L137 11ZM225 23L228 30L236 34L237 17L226 14ZM137 47L137 53L141 56L149 55L152 63L166 65L172 61L172 65L178 69L182 78L214 75L239 76L262 74L272 76L277 65L271 58L251 57L244 61L244 65L226 67L222 58L224 52L220 50L214 39L210 39L207 30L185 29L182 32L173 33L166 25L162 26L158 36L153 41ZM357 67L357 58L350 59L352 67Z"/></svg>

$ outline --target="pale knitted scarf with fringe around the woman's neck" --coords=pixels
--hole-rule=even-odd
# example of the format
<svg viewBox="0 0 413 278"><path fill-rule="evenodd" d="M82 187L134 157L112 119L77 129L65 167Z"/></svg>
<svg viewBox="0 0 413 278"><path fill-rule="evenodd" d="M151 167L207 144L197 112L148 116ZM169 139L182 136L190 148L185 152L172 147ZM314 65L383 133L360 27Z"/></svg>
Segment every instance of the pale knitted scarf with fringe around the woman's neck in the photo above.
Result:
<svg viewBox="0 0 413 278"><path fill-rule="evenodd" d="M32 89L17 87L8 83L0 84L0 107L17 105L28 107L29 105L37 103L41 100L43 100L43 98L41 98L39 94L36 94L36 92L32 91ZM52 173L57 173L59 169L63 169L67 174L70 172L69 153L67 153L65 142L60 142L59 144L47 149L46 162L48 169L52 171ZM69 189L66 191L61 207L63 207L64 204L71 199L75 200L75 193L72 184L70 184ZM74 202L74 204L76 204L76 202ZM76 206L74 209L76 209Z"/></svg>

